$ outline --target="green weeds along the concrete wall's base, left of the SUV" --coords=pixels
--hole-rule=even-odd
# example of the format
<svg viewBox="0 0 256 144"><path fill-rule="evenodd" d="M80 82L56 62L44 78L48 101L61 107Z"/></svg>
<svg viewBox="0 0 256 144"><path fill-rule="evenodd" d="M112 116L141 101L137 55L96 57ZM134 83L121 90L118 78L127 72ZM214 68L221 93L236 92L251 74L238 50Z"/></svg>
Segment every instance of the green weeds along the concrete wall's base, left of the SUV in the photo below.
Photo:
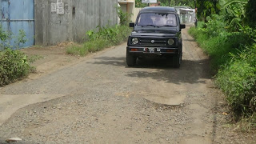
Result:
<svg viewBox="0 0 256 144"><path fill-rule="evenodd" d="M66 49L67 54L85 56L103 50L106 47L118 45L125 42L131 30L128 26L106 26L98 27L97 30L90 30L86 33L86 42L74 44Z"/></svg>

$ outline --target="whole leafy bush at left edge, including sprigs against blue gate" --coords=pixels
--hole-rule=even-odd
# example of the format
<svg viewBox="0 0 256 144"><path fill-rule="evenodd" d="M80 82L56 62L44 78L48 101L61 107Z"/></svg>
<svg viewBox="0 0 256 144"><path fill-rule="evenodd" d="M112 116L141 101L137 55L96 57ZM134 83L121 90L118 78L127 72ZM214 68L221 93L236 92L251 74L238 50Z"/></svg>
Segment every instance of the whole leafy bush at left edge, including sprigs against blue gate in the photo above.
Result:
<svg viewBox="0 0 256 144"><path fill-rule="evenodd" d="M7 41L13 38L10 32L2 29L0 25L0 86L14 82L30 73L33 67L30 66L28 58L19 50L11 50ZM26 33L19 30L17 40L15 41L18 48L21 44L26 43Z"/></svg>

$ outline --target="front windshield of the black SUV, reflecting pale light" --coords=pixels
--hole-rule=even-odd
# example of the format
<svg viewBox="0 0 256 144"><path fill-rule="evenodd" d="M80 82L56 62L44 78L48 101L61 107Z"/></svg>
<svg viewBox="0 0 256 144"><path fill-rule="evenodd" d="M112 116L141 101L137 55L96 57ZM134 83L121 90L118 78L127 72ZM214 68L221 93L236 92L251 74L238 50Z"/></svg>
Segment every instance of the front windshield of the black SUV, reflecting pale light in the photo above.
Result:
<svg viewBox="0 0 256 144"><path fill-rule="evenodd" d="M138 26L177 26L175 14L142 13L137 20Z"/></svg>

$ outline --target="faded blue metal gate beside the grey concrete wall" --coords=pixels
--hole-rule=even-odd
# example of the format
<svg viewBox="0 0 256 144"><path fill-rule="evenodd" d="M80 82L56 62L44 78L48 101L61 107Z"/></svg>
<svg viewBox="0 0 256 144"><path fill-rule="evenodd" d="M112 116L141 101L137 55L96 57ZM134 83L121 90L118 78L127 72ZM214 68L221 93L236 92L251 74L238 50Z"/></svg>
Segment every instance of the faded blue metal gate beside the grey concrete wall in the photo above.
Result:
<svg viewBox="0 0 256 144"><path fill-rule="evenodd" d="M2 29L11 34L6 43L18 48L19 30L23 30L26 42L21 46L34 45L34 0L0 0L0 15Z"/></svg>

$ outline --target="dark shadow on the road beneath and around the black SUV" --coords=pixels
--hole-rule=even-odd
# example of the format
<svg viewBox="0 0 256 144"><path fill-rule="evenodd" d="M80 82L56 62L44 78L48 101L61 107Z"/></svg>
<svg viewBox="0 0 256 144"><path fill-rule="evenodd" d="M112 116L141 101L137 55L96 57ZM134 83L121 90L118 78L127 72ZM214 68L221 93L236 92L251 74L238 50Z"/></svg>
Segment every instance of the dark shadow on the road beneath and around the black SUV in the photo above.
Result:
<svg viewBox="0 0 256 144"><path fill-rule="evenodd" d="M152 78L158 81L180 84L185 83L205 83L202 78L210 79L209 60L190 61L182 60L180 68L170 66L166 58L146 58L138 60L136 66L128 67L126 58L120 57L98 57L92 64L104 66L126 67L127 77ZM154 70L153 70L154 69Z"/></svg>

